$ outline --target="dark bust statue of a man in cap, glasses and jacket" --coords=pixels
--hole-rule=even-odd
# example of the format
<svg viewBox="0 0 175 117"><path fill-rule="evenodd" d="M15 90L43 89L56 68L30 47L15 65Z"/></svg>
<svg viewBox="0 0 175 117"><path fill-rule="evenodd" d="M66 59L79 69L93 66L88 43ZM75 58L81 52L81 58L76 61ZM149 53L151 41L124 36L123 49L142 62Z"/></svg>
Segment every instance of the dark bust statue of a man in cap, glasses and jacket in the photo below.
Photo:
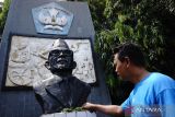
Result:
<svg viewBox="0 0 175 117"><path fill-rule="evenodd" d="M91 86L72 75L77 62L73 61L73 51L65 40L57 39L52 44L45 67L52 75L33 83L36 100L44 114L79 107L86 102Z"/></svg>

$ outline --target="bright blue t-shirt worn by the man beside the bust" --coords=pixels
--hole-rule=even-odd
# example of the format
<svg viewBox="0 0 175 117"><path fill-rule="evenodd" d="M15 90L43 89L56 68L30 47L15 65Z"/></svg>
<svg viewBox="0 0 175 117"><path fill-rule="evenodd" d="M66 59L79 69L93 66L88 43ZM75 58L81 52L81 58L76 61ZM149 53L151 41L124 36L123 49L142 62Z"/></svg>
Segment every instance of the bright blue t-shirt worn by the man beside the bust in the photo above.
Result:
<svg viewBox="0 0 175 117"><path fill-rule="evenodd" d="M175 117L175 81L152 72L136 84L121 107L132 117Z"/></svg>

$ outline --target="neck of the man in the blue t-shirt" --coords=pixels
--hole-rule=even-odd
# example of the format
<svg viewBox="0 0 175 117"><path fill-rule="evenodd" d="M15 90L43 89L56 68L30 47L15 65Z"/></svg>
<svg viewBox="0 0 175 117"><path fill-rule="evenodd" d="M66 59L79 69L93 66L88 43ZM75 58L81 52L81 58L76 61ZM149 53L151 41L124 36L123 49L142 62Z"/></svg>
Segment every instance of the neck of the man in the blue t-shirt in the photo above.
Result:
<svg viewBox="0 0 175 117"><path fill-rule="evenodd" d="M137 84L138 82L140 82L142 79L144 79L149 74L150 74L150 72L143 68L137 69L131 78L131 82Z"/></svg>

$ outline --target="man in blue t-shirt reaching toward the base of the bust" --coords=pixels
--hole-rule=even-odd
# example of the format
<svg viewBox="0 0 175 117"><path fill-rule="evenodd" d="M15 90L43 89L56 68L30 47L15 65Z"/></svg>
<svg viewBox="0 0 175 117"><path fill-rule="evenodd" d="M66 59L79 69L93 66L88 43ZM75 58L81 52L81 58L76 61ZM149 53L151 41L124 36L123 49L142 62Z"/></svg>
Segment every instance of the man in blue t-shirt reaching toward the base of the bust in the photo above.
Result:
<svg viewBox="0 0 175 117"><path fill-rule="evenodd" d="M124 44L114 50L114 67L122 80L136 84L129 97L120 106L85 103L83 108L115 116L175 117L175 81L147 71L143 54L136 44Z"/></svg>

